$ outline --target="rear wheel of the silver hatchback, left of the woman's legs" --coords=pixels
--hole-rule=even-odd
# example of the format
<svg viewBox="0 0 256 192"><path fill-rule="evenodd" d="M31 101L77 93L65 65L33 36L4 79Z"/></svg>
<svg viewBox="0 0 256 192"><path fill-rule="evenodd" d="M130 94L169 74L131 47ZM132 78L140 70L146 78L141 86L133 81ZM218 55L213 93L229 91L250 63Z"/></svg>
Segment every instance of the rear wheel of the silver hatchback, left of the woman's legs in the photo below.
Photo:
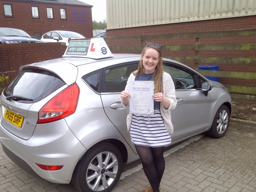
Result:
<svg viewBox="0 0 256 192"><path fill-rule="evenodd" d="M112 144L101 143L86 152L75 167L72 183L80 192L110 192L118 182L122 156Z"/></svg>

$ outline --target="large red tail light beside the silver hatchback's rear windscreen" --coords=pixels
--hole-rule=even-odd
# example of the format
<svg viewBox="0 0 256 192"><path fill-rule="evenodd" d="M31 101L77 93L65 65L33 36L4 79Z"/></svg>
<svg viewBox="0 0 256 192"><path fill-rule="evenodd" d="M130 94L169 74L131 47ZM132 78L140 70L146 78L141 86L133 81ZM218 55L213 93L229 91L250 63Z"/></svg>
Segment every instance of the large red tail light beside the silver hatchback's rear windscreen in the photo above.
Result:
<svg viewBox="0 0 256 192"><path fill-rule="evenodd" d="M79 93L80 89L76 83L58 93L40 109L37 124L50 123L73 114L77 107Z"/></svg>

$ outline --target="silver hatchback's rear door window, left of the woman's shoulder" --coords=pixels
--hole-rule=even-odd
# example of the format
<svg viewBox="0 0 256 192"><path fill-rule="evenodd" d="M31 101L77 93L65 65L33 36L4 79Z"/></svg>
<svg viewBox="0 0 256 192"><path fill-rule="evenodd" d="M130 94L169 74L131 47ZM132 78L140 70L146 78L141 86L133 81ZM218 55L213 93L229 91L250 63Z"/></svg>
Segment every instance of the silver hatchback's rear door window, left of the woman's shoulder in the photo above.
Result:
<svg viewBox="0 0 256 192"><path fill-rule="evenodd" d="M104 70L104 82L102 93L122 92L125 89L127 80L132 72L138 69L139 63L106 68Z"/></svg>

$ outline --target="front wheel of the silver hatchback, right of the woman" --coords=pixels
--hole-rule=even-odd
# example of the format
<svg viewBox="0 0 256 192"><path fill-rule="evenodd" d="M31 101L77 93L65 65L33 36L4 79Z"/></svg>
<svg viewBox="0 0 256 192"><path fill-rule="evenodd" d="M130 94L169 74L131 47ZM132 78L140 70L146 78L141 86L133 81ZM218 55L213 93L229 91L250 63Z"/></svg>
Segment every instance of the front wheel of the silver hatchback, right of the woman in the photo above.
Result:
<svg viewBox="0 0 256 192"><path fill-rule="evenodd" d="M213 138L221 138L225 135L229 127L230 112L227 106L222 105L218 109L211 128L207 135Z"/></svg>

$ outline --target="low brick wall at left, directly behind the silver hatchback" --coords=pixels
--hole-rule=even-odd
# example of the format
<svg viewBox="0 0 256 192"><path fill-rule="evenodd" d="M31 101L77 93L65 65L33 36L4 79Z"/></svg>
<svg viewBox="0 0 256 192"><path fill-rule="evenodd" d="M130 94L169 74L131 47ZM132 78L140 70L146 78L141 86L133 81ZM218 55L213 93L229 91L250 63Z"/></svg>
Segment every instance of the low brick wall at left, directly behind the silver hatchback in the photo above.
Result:
<svg viewBox="0 0 256 192"><path fill-rule="evenodd" d="M20 66L60 58L66 48L66 43L0 44L0 75L4 73L12 80Z"/></svg>

